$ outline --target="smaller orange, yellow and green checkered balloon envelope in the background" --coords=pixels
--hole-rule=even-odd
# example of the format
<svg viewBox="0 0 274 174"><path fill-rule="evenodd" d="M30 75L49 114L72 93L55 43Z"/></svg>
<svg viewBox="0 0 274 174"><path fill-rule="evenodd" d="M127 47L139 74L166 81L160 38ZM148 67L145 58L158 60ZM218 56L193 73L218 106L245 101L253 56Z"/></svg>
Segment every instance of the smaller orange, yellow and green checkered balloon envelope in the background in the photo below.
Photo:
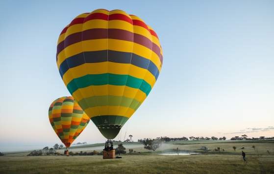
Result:
<svg viewBox="0 0 274 174"><path fill-rule="evenodd" d="M54 100L50 105L49 119L53 130L67 148L90 121L73 97Z"/></svg>

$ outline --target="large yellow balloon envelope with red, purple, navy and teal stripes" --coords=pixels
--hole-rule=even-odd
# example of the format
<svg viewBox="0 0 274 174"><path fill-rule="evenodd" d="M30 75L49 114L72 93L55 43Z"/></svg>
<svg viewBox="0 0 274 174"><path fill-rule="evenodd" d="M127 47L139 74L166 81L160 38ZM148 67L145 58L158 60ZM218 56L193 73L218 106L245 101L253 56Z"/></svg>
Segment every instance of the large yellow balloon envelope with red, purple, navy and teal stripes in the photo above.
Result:
<svg viewBox="0 0 274 174"><path fill-rule="evenodd" d="M154 30L122 10L77 16L61 32L57 66L69 92L113 139L149 95L162 67Z"/></svg>

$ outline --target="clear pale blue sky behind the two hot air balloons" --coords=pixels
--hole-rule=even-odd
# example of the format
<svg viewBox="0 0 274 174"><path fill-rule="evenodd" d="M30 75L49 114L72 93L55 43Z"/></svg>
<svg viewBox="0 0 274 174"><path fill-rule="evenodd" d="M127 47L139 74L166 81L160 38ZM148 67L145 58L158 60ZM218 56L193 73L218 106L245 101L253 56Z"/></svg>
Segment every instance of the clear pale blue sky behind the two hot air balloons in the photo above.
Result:
<svg viewBox="0 0 274 174"><path fill-rule="evenodd" d="M122 9L158 34L163 68L122 140L158 136L274 136L273 0L1 0L0 151L61 143L48 109L70 95L56 42L78 14ZM103 142L91 122L75 142Z"/></svg>

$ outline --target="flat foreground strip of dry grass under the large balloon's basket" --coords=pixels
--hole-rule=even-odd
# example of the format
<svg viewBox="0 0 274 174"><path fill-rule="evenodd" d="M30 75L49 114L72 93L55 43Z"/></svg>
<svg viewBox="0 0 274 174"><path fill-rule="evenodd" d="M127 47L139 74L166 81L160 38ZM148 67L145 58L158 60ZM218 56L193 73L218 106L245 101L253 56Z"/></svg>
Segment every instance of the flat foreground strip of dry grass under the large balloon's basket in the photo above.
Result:
<svg viewBox="0 0 274 174"><path fill-rule="evenodd" d="M273 155L125 155L103 160L101 156L32 156L0 158L0 173L274 173Z"/></svg>

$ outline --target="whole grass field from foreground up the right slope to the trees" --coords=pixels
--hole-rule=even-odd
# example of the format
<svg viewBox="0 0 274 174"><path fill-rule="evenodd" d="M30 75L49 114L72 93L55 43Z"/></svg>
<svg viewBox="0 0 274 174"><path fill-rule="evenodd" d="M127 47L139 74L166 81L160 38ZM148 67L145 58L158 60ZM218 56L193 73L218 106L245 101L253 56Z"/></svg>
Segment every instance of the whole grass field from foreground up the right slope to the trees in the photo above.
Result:
<svg viewBox="0 0 274 174"><path fill-rule="evenodd" d="M192 142L192 141L191 141ZM255 146L254 150L252 146ZM136 146L136 144L134 145ZM201 146L210 149L199 150ZM234 152L233 146L237 149ZM165 151L201 152L202 155L159 155ZM220 147L224 152L215 152ZM240 148L245 147L248 162L244 163ZM86 150L91 147L85 147ZM92 147L94 148L94 147ZM83 148L82 148L83 149ZM74 151L76 149L72 149ZM0 157L0 173L199 173L199 174L274 174L274 141L164 143L155 152L141 147L141 153L122 155L122 159L103 160L102 156L20 156L22 153ZM267 152L269 151L270 154Z"/></svg>

